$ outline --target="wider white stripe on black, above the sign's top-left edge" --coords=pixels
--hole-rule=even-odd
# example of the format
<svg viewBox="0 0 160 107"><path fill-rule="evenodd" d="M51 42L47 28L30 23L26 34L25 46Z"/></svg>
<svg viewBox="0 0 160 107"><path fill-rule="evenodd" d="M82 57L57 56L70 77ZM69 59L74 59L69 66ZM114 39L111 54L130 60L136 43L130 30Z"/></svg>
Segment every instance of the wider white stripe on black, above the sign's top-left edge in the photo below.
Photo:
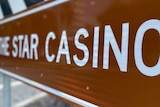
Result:
<svg viewBox="0 0 160 107"><path fill-rule="evenodd" d="M8 3L11 7L12 13L14 14L27 9L24 0L8 0Z"/></svg>

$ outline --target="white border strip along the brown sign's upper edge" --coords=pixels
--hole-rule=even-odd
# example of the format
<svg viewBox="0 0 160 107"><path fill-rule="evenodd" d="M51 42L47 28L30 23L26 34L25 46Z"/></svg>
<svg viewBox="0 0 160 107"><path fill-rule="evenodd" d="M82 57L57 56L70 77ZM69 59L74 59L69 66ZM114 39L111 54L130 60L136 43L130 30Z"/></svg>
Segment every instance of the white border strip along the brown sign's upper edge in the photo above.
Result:
<svg viewBox="0 0 160 107"><path fill-rule="evenodd" d="M25 11L23 13L20 13L20 14L17 14L15 16L12 16L12 17L9 17L9 18L6 18L4 20L1 20L0 21L0 25L1 24L4 24L4 23L8 23L10 21L14 21L16 19L19 19L19 18L22 18L22 17L25 17L25 16L28 16L28 15L31 15L31 14L34 14L34 13L37 13L37 12L40 12L42 10L45 10L45 9L48 9L50 7L53 7L53 6L57 6L59 4L62 4L62 3L65 3L69 0L56 0L56 1L52 1L52 2L49 2L47 4L44 4L44 5L41 5L39 7L36 7L32 10L28 10L28 11Z"/></svg>

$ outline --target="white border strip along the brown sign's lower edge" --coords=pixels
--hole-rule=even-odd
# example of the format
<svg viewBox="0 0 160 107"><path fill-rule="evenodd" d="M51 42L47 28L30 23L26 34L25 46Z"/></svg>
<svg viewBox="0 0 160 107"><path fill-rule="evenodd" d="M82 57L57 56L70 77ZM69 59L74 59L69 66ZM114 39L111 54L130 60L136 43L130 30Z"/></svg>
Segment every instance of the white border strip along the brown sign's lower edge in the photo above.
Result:
<svg viewBox="0 0 160 107"><path fill-rule="evenodd" d="M59 96L59 97L61 97L61 98L66 99L66 100L68 100L68 101L71 101L71 102L74 102L74 103L76 103L76 104L79 104L79 105L81 105L81 106L83 106L83 107L99 107L99 106L97 106L97 105L95 105L95 104L89 103L89 102L84 101L84 100L79 99L79 98L76 98L76 97L74 97L74 96L71 96L71 95L66 94L66 93L64 93L64 92L61 92L61 91L56 90L56 89L54 89L54 88L48 87L48 86L46 86L46 85L40 84L40 83L38 83L38 82L35 82L35 81L33 81L33 80L30 80L30 79L27 79L27 78L25 78L25 77L19 76L19 75L17 75L17 74L11 73L10 71L7 71L7 70L5 70L5 69L0 68L0 73L5 74L5 75L8 75L8 76L11 76L11 77L16 78L16 79L18 79L18 80L21 80L21 81L23 81L23 82L25 82L25 83L27 83L27 84L30 84L30 85L35 86L35 87L38 87L38 88L40 88L40 89L42 89L42 90L45 90L45 91L47 91L47 92L50 92L50 93L52 93L52 94L54 94L54 95L56 95L56 96Z"/></svg>

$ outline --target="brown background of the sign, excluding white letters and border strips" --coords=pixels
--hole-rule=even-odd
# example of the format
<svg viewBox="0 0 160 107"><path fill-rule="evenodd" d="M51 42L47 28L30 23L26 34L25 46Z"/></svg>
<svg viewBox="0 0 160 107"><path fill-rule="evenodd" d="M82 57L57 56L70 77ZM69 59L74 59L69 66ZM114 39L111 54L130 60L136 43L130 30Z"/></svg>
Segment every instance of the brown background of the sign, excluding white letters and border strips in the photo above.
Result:
<svg viewBox="0 0 160 107"><path fill-rule="evenodd" d="M134 59L136 31L146 20L160 19L159 5L158 0L72 0L0 25L1 36L37 33L40 39L37 61L0 56L0 67L101 107L159 107L159 76L147 77L140 73ZM104 26L112 26L120 47L121 26L125 22L130 24L127 73L119 70L111 49L109 69L104 70ZM100 26L100 46L99 65L93 69L92 44L95 26ZM83 53L75 47L73 38L75 32L83 27L88 30L89 37L82 42L87 45L90 54L88 63L78 67L73 61L73 55L83 57ZM50 44L50 52L56 54L62 30L67 31L70 65L66 63L64 56L60 63L49 63L44 56L48 32L53 31L56 34L56 40ZM148 66L157 63L160 53L159 40L155 31L149 31L144 37L143 59Z"/></svg>

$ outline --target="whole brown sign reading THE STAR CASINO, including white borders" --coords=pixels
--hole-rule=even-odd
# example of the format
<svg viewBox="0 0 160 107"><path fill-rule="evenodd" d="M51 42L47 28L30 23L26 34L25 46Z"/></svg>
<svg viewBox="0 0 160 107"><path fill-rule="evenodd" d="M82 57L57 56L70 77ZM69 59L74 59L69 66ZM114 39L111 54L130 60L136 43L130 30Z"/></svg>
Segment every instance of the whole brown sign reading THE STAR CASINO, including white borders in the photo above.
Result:
<svg viewBox="0 0 160 107"><path fill-rule="evenodd" d="M159 5L49 0L18 11L0 20L0 71L82 106L159 107Z"/></svg>

